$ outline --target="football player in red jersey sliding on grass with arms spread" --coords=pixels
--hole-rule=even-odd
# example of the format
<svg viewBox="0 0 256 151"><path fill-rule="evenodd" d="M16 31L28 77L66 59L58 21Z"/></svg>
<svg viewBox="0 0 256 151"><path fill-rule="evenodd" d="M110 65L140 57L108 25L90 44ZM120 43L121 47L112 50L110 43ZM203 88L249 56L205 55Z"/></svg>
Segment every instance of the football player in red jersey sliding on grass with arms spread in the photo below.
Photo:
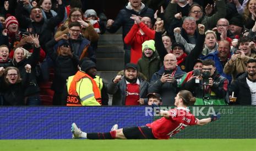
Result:
<svg viewBox="0 0 256 151"><path fill-rule="evenodd" d="M81 131L75 123L72 124L73 138L88 138L91 140L100 139L168 139L185 129L188 125L204 125L220 118L220 114L211 115L210 118L197 119L189 112L187 106L195 102L195 97L190 91L179 91L175 97L177 108L169 111L160 110L162 118L145 126L126 127L118 129L114 125L110 132L86 133Z"/></svg>

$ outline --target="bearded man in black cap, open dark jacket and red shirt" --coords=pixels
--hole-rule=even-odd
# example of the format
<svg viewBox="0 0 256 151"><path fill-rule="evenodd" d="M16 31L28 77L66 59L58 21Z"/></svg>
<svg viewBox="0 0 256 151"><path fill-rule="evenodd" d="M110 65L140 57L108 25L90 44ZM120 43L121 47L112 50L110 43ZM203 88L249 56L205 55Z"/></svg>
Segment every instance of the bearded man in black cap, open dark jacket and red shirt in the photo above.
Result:
<svg viewBox="0 0 256 151"><path fill-rule="evenodd" d="M113 95L112 105L139 105L139 98L146 98L149 84L138 75L137 65L127 63L124 75L117 75L107 85L108 94Z"/></svg>

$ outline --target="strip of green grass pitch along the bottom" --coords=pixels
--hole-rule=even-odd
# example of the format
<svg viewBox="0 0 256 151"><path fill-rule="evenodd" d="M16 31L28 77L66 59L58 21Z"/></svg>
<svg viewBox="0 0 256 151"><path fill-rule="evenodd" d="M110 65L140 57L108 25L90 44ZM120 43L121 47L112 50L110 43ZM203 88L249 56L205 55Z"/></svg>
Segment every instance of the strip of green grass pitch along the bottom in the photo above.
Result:
<svg viewBox="0 0 256 151"><path fill-rule="evenodd" d="M0 140L0 150L256 150L256 139Z"/></svg>

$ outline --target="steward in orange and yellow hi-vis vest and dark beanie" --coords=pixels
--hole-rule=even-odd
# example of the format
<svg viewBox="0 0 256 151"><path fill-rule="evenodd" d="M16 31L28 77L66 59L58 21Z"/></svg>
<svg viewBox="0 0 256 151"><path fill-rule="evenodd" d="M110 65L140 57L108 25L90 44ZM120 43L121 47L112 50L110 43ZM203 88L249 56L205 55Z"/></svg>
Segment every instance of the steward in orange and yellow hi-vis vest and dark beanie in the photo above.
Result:
<svg viewBox="0 0 256 151"><path fill-rule="evenodd" d="M106 84L96 75L94 62L89 59L79 62L79 71L67 80L67 106L107 105ZM104 102L104 103L103 103Z"/></svg>

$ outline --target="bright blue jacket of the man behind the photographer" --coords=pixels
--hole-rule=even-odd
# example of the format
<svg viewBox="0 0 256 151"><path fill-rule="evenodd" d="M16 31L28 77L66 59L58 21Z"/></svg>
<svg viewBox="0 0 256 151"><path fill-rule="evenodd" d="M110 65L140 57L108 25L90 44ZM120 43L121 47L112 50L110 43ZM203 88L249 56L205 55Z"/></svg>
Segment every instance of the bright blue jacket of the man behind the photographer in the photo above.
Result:
<svg viewBox="0 0 256 151"><path fill-rule="evenodd" d="M230 57L228 57L227 60L230 60L231 58L231 55L230 54ZM224 69L224 66L222 66L222 63L220 62L220 59L219 59L219 56L218 56L218 51L215 50L213 51L213 53L210 53L208 55L206 55L205 57L202 57L203 60L206 60L206 59L211 59L215 62L215 67L217 69L217 72L222 75L223 77L227 78L228 81L231 83L231 80L232 80L232 77L231 77L231 74L225 74L223 72L223 69Z"/></svg>

